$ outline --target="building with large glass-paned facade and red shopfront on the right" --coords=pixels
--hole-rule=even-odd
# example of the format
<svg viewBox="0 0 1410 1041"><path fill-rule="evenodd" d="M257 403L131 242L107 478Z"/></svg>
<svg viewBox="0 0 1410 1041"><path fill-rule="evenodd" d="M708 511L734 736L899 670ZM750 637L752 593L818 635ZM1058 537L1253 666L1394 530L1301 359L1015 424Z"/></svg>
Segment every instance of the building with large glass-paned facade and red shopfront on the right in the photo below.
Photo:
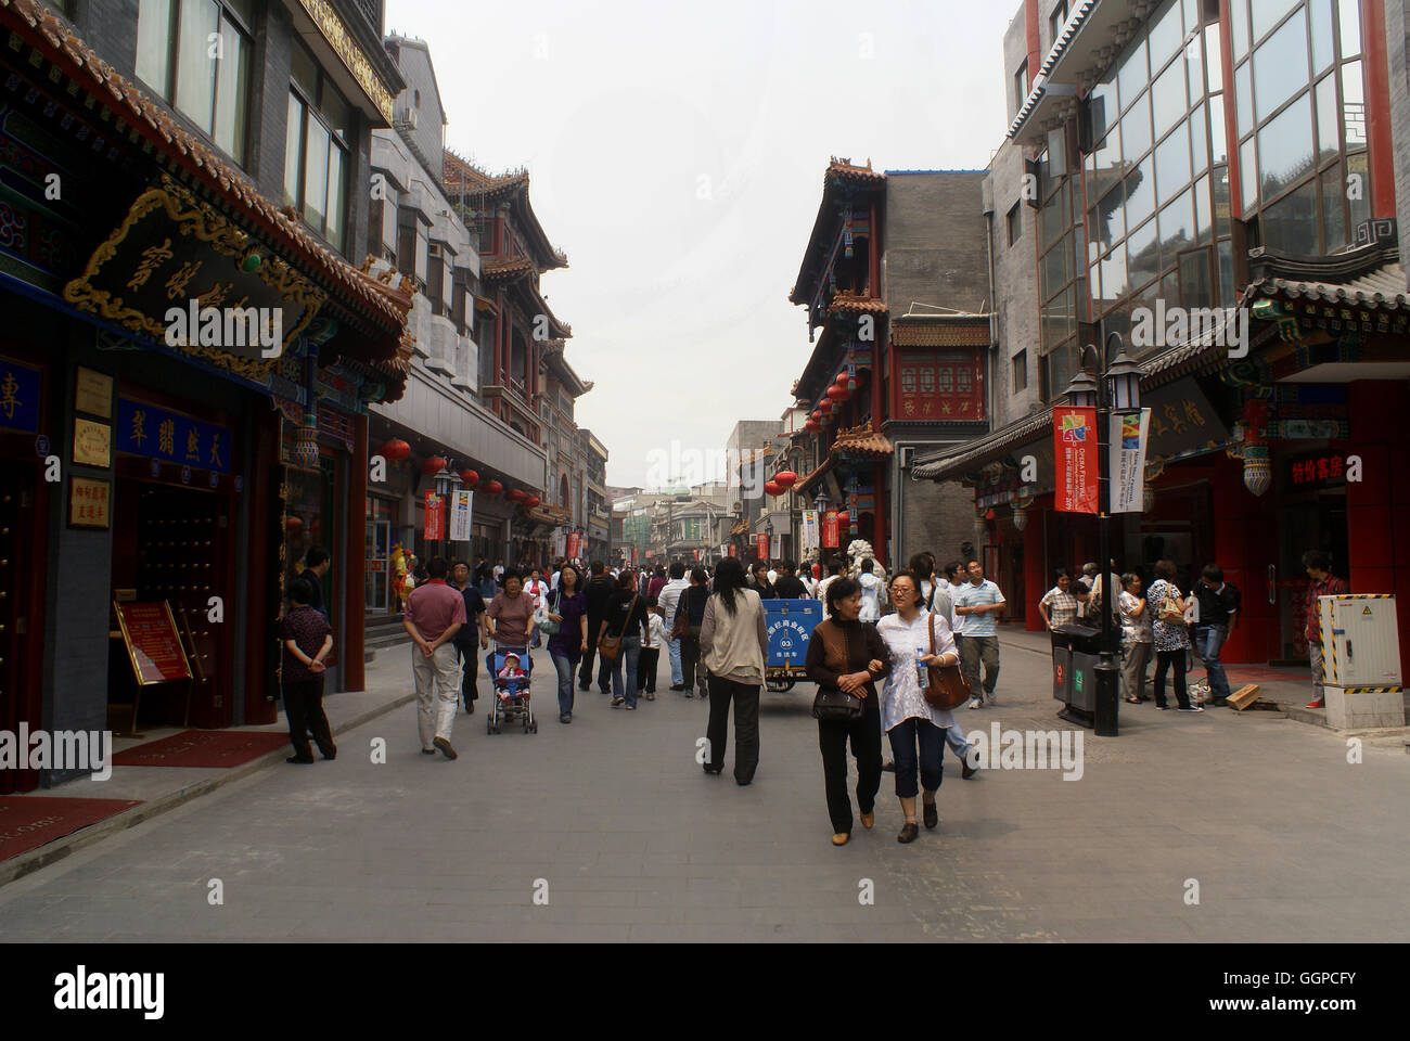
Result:
<svg viewBox="0 0 1410 1041"><path fill-rule="evenodd" d="M970 489L991 571L1026 585L1010 602L1028 628L1053 568L1097 556L1094 518L1053 511L1052 406L1080 346L1111 333L1151 409L1145 509L1115 525L1121 570L1149 581L1170 559L1189 588L1220 564L1244 592L1232 662L1306 660L1306 550L1330 553L1352 591L1410 592L1396 7L1019 8L1004 41L1012 121L986 189L1011 394L993 434L916 475ZM1191 334L1158 319L1148 336L1152 316L1200 312L1220 320ZM1400 625L1407 653L1410 612Z"/></svg>

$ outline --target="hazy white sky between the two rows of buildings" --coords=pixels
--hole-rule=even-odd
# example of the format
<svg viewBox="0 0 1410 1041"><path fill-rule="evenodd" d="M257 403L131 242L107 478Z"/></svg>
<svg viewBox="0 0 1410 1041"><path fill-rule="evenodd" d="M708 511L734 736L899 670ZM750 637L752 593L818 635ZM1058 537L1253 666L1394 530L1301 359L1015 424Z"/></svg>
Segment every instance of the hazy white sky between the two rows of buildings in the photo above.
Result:
<svg viewBox="0 0 1410 1041"><path fill-rule="evenodd" d="M543 278L596 386L578 423L609 484L653 450L721 451L792 402L811 354L787 295L830 155L976 169L1003 141L1021 0L388 0L420 37L447 145L530 171L570 267Z"/></svg>

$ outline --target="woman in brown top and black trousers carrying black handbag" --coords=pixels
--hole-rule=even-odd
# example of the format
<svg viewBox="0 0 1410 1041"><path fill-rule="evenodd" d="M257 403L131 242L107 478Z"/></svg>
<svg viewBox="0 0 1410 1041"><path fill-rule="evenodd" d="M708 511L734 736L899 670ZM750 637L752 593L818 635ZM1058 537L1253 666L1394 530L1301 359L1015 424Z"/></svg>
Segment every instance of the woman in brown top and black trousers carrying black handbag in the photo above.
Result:
<svg viewBox="0 0 1410 1041"><path fill-rule="evenodd" d="M826 780L832 845L852 838L852 800L847 797L847 742L857 760L857 810L862 827L876 824L881 790L881 705L876 680L891 669L891 652L874 625L859 622L862 587L854 578L828 585L828 621L808 639L808 678L822 690L842 690L862 698L862 718L850 722L818 721L818 748Z"/></svg>

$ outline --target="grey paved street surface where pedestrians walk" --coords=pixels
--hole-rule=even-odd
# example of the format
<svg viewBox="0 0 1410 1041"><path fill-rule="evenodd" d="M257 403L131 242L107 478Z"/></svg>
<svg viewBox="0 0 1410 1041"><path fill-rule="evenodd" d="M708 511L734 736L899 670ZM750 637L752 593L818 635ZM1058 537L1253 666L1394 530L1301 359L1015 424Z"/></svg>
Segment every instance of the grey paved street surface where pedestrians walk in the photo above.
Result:
<svg viewBox="0 0 1410 1041"><path fill-rule="evenodd" d="M398 649L388 655L405 655ZM1270 712L1122 705L1086 732L1080 780L946 753L938 832L902 846L883 776L873 831L835 849L812 687L764 694L752 787L704 776L705 707L578 693L540 732L457 718L457 762L420 755L415 707L0 890L0 939L1389 941L1410 931L1403 739ZM1000 705L963 725L1067 729L1046 657L1003 652ZM481 702L484 704L484 701ZM386 739L386 763L371 762ZM223 886L209 903L210 882ZM867 880L870 886L867 886ZM1193 882L1191 882L1193 880ZM1189 893L1198 887L1198 903ZM546 904L534 893L547 893ZM860 897L870 889L874 903Z"/></svg>

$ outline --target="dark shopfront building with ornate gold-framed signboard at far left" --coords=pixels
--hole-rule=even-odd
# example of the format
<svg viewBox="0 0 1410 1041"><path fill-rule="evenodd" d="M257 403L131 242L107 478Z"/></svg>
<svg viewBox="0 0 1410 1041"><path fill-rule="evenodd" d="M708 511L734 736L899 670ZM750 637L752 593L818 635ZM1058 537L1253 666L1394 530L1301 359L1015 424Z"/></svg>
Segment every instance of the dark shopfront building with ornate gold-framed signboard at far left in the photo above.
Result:
<svg viewBox="0 0 1410 1041"><path fill-rule="evenodd" d="M312 546L362 684L348 518L410 357L407 293L345 260L379 4L212 3L214 59L189 6L55 7L0 1L0 728L274 722Z"/></svg>

